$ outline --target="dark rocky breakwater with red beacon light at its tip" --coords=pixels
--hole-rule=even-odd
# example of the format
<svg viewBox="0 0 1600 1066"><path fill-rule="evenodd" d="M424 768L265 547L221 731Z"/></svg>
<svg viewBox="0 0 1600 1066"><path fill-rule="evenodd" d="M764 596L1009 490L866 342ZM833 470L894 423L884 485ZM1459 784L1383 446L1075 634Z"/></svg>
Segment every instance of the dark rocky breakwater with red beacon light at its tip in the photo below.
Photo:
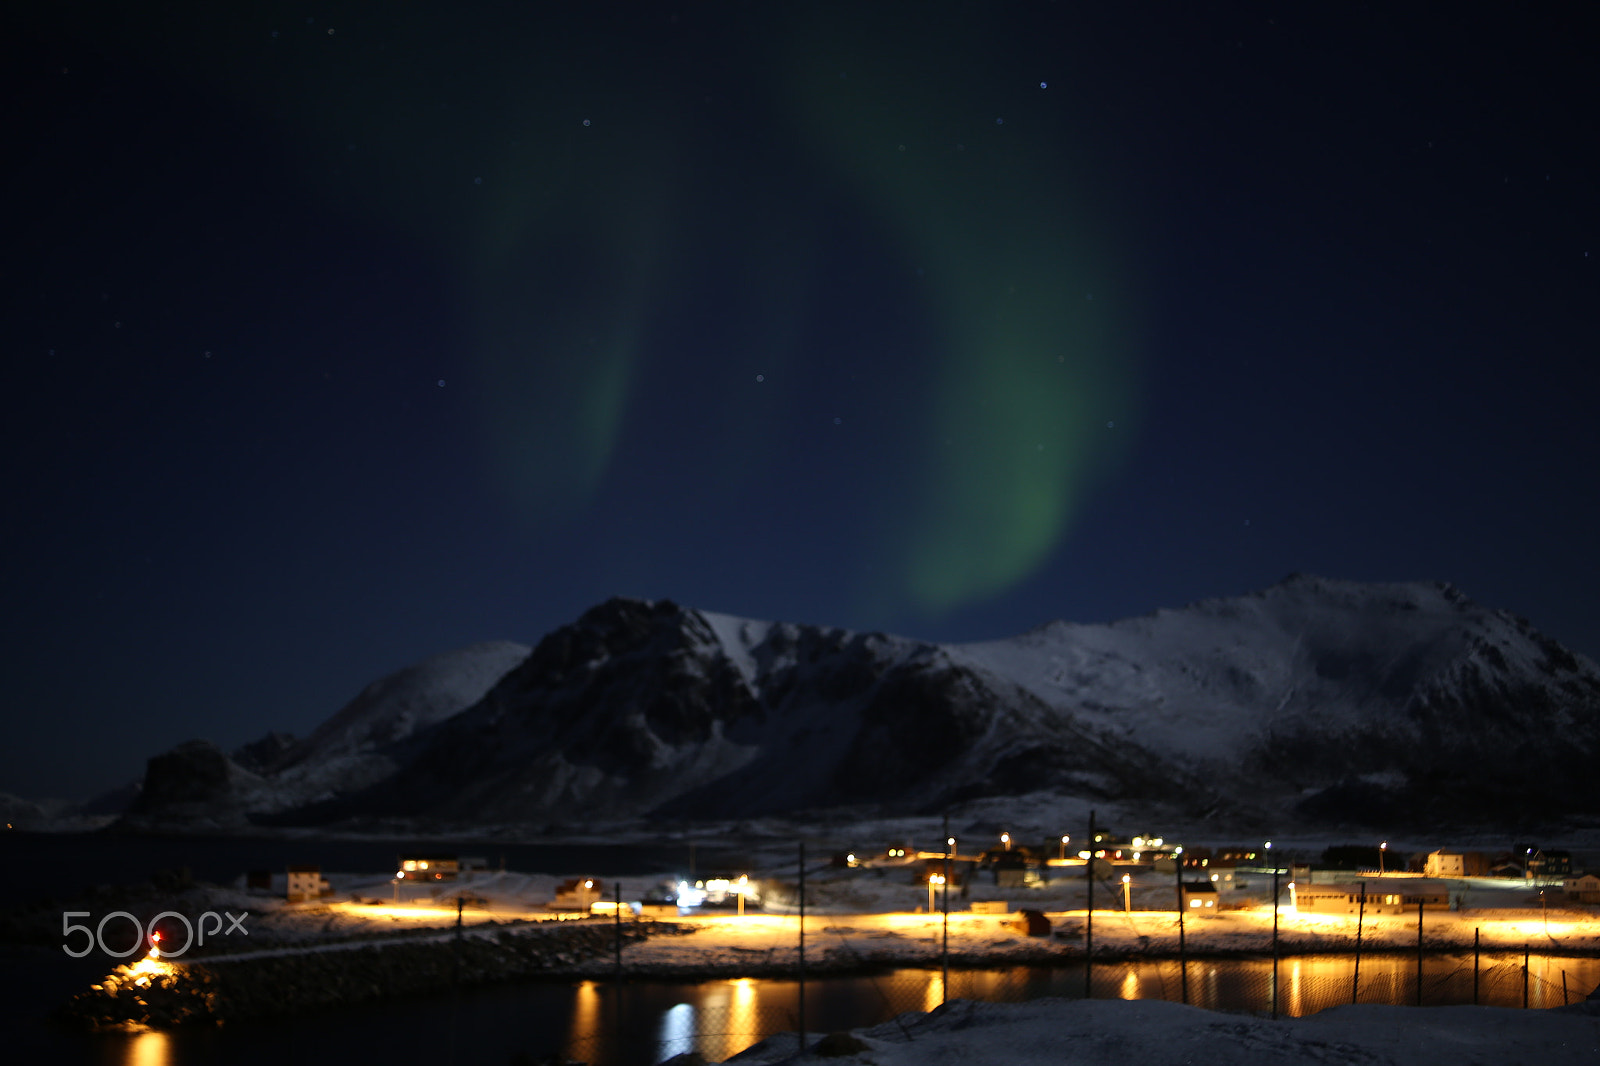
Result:
<svg viewBox="0 0 1600 1066"><path fill-rule="evenodd" d="M195 962L144 959L62 1008L83 1029L165 1029L274 1018L307 1008L427 996L467 984L571 973L586 960L651 935L669 922L546 922L470 930L462 936L338 944Z"/></svg>

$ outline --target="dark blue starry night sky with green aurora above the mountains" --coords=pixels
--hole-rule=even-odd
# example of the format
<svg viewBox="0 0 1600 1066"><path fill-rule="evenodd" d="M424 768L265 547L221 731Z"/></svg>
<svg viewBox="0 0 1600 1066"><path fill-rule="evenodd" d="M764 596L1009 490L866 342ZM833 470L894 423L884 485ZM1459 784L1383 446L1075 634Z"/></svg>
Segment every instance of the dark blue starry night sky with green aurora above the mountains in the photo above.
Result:
<svg viewBox="0 0 1600 1066"><path fill-rule="evenodd" d="M1600 653L1586 8L1307 6L8 11L0 791L614 594Z"/></svg>

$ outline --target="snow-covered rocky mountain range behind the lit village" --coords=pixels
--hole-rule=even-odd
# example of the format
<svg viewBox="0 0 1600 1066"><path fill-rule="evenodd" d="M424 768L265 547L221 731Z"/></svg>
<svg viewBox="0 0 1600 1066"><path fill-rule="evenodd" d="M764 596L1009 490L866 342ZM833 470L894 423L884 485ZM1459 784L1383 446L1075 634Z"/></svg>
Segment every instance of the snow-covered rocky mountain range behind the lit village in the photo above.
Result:
<svg viewBox="0 0 1600 1066"><path fill-rule="evenodd" d="M430 728L390 735L358 699L229 787L301 824L934 810L1035 791L1277 824L1600 808L1600 669L1448 584L1296 575L971 645L614 599L493 661L483 675L502 675Z"/></svg>

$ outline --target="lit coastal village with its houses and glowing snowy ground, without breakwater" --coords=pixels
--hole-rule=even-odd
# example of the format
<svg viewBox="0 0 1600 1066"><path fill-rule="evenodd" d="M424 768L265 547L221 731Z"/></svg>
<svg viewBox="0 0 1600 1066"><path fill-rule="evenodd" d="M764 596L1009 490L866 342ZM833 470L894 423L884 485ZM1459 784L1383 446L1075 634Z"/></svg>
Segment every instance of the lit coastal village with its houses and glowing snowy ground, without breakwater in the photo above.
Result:
<svg viewBox="0 0 1600 1066"><path fill-rule="evenodd" d="M314 925L322 935L584 919L674 922L699 933L675 938L669 952L688 968L696 946L706 948L709 968L723 968L731 964L715 944L736 946L757 930L794 935L802 909L797 861L742 869L693 863L686 855L680 871L605 880L522 874L485 855L435 848L397 855L395 869L381 876L291 866L282 874L253 871L237 887L258 901L262 924L285 932ZM1536 938L1549 946L1558 933L1563 949L1600 951L1600 874L1574 866L1568 850L1536 842L1410 853L1374 842L1309 853L1267 840L1184 847L1157 834L1107 829L1088 847L1070 834L1024 840L1000 831L982 840L947 837L939 848L904 840L813 853L803 890L806 912L834 925L840 916L885 928L941 919L954 924L963 951L1000 956L1040 938L1064 954L1074 944L1082 952L1078 930L1091 908L1101 930L1098 952L1162 951L1179 909L1190 920L1189 949L1202 952L1262 949L1259 935L1245 932L1261 922L1275 922L1280 948L1290 951L1347 949L1357 925L1370 944L1381 944L1397 919L1414 936L1419 912L1426 935L1440 943L1477 936L1504 948ZM978 928L987 948L966 944L968 930ZM1118 948L1134 928L1134 941ZM645 962L662 951L654 944L637 943L630 956ZM907 962L923 954L909 943L899 948Z"/></svg>

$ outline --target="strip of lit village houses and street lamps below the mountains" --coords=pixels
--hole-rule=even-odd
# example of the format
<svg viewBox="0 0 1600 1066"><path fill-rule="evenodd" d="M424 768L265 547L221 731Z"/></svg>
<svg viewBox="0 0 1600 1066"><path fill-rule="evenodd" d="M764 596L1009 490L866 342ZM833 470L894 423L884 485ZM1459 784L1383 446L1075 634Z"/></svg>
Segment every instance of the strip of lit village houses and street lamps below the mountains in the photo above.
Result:
<svg viewBox="0 0 1600 1066"><path fill-rule="evenodd" d="M1186 848L1154 834L1123 837L1110 831L1094 836L1093 853L1088 847L1074 845L1070 834L1058 842L1037 844L1016 840L1002 831L994 844L979 848L955 837L947 840L939 850L899 842L872 852L850 850L813 858L813 892L822 893L813 908L830 908L829 900L843 892L870 895L877 904L874 909L885 911L966 911L976 903L979 912L992 912L990 904L1002 898L1022 908L1032 895L1054 896L1072 890L1085 895L1082 906L1088 908L1086 885L1091 879L1085 876L1085 868L1090 863L1094 864L1093 882L1115 896L1102 895L1093 906L1114 911L1171 911L1179 906L1179 896L1189 912L1237 911L1270 906L1274 892L1280 908L1296 912L1344 914L1363 908L1374 917L1414 912L1418 906L1426 911L1485 911L1600 904L1600 872L1574 869L1568 850L1538 844L1518 844L1501 852L1438 848L1400 853L1379 842L1334 845L1312 858L1285 848L1274 853L1270 840ZM402 853L395 868L378 879L370 874L325 874L317 866L290 866L278 876L251 871L242 880L251 893L282 896L293 904L347 898L363 906L382 906L384 896L389 896L390 903L403 903L414 911L419 903L445 901L454 906L462 898L477 912L491 912L498 906L490 895L533 904L528 895L542 884L541 879L496 868L486 856L440 850ZM387 890L379 885L387 885ZM562 917L610 916L619 903L611 887L595 877L565 879L542 909ZM931 903L923 901L920 892L906 892L907 887L931 890ZM624 914L650 917L690 917L728 908L786 912L797 906L797 888L792 871L784 880L782 876L757 871L707 874L690 868L686 874L662 876L651 884L629 879L629 893L621 903ZM1165 903L1160 900L1163 895ZM890 906L894 898L907 906Z"/></svg>

